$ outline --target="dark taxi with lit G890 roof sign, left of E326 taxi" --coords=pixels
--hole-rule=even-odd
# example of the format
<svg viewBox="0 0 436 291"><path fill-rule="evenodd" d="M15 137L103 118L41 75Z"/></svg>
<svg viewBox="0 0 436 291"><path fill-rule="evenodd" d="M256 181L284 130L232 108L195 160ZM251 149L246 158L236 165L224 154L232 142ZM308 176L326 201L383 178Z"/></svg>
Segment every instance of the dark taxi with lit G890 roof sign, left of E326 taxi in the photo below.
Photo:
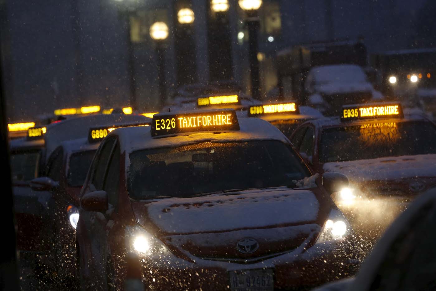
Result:
<svg viewBox="0 0 436 291"><path fill-rule="evenodd" d="M75 277L76 239L79 194L89 165L99 143L118 127L149 126L149 119L140 116L143 123L111 123L92 127L88 137L62 142L47 159L44 175L31 181L34 192L45 192L49 199L46 221L50 232L41 234L41 241L51 241L48 256L41 258L46 266L54 268L61 280Z"/></svg>

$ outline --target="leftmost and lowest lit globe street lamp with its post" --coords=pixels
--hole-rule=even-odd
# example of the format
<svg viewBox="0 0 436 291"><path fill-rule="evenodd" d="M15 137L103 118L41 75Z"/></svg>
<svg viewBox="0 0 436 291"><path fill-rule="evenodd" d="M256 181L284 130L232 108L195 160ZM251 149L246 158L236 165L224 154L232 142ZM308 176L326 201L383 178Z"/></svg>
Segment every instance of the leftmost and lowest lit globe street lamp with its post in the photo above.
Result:
<svg viewBox="0 0 436 291"><path fill-rule="evenodd" d="M159 72L159 94L160 103L164 106L166 99L165 81L165 49L164 42L168 38L168 26L165 22L155 22L150 27L150 37L156 41L157 67Z"/></svg>

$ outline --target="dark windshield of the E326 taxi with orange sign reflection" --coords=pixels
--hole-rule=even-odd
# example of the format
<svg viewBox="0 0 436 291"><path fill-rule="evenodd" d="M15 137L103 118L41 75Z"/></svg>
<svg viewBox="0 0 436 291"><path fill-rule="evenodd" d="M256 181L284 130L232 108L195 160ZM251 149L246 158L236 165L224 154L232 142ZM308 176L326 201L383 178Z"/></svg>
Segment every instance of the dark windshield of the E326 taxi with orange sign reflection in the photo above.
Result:
<svg viewBox="0 0 436 291"><path fill-rule="evenodd" d="M203 143L135 151L129 156L133 199L191 197L232 189L293 187L308 176L279 141Z"/></svg>

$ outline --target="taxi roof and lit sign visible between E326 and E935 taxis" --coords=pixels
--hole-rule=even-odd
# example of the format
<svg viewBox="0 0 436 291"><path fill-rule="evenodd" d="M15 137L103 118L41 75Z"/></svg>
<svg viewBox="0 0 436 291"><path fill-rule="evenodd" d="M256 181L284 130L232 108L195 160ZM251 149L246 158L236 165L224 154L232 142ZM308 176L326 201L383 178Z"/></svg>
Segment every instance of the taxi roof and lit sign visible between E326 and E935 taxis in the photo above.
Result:
<svg viewBox="0 0 436 291"><path fill-rule="evenodd" d="M293 101L249 106L247 114L248 117L268 121L288 138L301 123L324 117L319 110L309 106L298 106Z"/></svg>

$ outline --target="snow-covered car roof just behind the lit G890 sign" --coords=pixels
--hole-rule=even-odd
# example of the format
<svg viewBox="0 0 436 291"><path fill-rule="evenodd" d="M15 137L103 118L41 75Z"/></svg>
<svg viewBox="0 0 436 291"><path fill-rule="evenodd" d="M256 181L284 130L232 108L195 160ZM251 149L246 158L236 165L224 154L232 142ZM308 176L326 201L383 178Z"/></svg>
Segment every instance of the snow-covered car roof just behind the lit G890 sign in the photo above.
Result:
<svg viewBox="0 0 436 291"><path fill-rule="evenodd" d="M90 127L112 126L117 124L150 123L151 118L142 115L126 114L98 114L90 116L75 117L53 123L47 126L47 133L44 136L45 147L48 157L61 142L88 137Z"/></svg>

